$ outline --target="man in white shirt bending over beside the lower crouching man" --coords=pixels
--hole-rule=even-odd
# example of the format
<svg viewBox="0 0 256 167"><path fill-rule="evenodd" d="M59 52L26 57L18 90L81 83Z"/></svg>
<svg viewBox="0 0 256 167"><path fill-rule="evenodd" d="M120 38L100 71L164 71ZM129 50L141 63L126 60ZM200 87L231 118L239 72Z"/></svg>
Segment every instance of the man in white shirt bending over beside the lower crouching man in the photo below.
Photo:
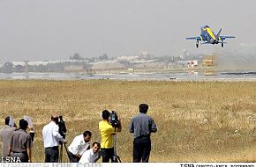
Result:
<svg viewBox="0 0 256 167"><path fill-rule="evenodd" d="M90 131L85 131L84 134L79 134L73 139L68 148L71 163L78 163L83 153L90 149L91 136Z"/></svg>

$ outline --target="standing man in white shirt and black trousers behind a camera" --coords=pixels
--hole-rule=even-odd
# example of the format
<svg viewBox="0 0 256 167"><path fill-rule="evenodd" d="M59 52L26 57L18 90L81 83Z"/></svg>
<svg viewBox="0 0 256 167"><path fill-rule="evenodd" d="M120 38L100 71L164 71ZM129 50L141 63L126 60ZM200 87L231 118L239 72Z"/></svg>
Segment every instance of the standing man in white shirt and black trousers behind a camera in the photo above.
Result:
<svg viewBox="0 0 256 167"><path fill-rule="evenodd" d="M51 122L42 128L42 141L45 149L45 163L58 162L58 145L59 142L64 142L63 136L59 134L58 116L51 116Z"/></svg>

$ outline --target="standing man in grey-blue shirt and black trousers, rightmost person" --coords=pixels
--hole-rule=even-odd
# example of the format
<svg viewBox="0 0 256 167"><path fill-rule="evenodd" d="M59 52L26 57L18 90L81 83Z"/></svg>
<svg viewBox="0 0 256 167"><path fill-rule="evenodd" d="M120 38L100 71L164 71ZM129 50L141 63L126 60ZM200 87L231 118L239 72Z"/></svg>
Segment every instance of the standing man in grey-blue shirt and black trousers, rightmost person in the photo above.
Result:
<svg viewBox="0 0 256 167"><path fill-rule="evenodd" d="M148 163L151 140L150 134L157 131L154 120L147 113L148 105L139 105L139 114L132 118L130 132L133 133L133 162Z"/></svg>

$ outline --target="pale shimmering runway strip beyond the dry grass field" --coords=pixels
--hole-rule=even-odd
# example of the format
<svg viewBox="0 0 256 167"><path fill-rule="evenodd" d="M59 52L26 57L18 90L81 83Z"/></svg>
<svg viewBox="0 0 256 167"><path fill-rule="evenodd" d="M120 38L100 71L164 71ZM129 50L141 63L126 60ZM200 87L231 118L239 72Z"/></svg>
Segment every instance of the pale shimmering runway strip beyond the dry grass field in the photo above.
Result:
<svg viewBox="0 0 256 167"><path fill-rule="evenodd" d="M130 73L0 73L7 80L171 80L171 81L256 81L256 71L188 71L188 72L134 72Z"/></svg>

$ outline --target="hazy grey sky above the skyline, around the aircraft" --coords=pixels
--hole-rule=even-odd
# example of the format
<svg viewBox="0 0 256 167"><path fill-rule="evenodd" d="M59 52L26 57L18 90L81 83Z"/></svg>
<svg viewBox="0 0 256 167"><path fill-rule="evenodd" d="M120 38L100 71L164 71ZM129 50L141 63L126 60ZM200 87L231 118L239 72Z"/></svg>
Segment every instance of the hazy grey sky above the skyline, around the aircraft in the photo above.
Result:
<svg viewBox="0 0 256 167"><path fill-rule="evenodd" d="M0 63L256 47L254 0L0 0ZM210 25L228 44L184 40Z"/></svg>

